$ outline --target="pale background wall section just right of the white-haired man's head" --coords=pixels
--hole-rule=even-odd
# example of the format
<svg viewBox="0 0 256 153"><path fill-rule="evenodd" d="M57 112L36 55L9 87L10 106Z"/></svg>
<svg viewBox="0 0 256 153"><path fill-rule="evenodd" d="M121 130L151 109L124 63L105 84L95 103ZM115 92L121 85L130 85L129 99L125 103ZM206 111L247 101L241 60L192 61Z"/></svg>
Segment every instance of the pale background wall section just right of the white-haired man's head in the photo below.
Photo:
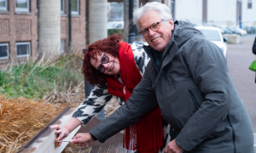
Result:
<svg viewBox="0 0 256 153"><path fill-rule="evenodd" d="M175 20L190 21L193 24L202 23L202 0L176 0Z"/></svg>

